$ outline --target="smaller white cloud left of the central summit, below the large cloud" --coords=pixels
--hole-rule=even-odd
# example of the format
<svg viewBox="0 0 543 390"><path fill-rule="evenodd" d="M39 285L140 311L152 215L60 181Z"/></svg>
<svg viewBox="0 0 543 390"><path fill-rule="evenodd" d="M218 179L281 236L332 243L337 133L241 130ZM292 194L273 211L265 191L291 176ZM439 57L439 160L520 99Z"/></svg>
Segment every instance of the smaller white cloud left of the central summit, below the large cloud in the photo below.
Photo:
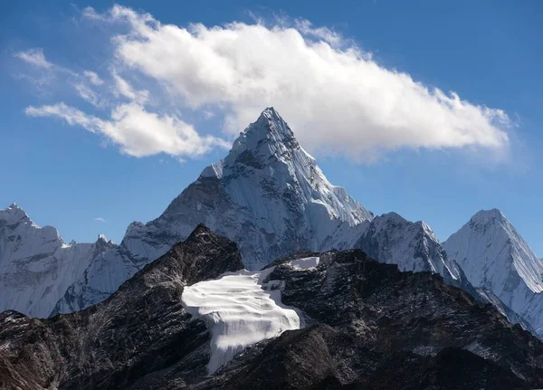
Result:
<svg viewBox="0 0 543 390"><path fill-rule="evenodd" d="M136 102L119 104L110 119L88 115L79 109L57 103L51 106L28 107L32 117L57 117L71 126L81 126L119 145L121 152L135 157L167 153L178 157L196 157L212 147L227 147L224 140L201 137L191 125L176 116L148 112Z"/></svg>

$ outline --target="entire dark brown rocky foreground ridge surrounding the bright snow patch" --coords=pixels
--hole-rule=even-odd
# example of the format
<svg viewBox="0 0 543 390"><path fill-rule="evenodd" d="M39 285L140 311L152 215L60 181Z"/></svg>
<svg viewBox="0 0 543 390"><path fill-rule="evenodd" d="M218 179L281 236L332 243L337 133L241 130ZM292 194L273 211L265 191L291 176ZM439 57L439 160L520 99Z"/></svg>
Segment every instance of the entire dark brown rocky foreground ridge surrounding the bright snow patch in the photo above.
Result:
<svg viewBox="0 0 543 390"><path fill-rule="evenodd" d="M295 259L318 258L310 266ZM533 388L543 344L430 272L364 252L302 253L266 281L306 328L247 347L207 376L211 335L183 291L243 267L234 243L196 228L108 300L78 313L0 315L0 388ZM301 265L300 265L301 264ZM243 317L243 314L241 314Z"/></svg>

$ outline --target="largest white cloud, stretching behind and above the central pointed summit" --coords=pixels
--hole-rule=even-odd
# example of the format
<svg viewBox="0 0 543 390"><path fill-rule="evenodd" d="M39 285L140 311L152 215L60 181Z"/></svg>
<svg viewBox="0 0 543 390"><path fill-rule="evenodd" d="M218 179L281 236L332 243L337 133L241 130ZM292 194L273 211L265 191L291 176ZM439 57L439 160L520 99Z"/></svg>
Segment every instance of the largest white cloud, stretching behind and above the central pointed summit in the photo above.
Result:
<svg viewBox="0 0 543 390"><path fill-rule="evenodd" d="M124 23L116 59L167 85L186 107L225 112L237 133L274 106L304 147L367 158L401 147L507 147L500 109L388 70L338 33L308 21L187 28L114 6L95 19ZM341 47L341 49L339 49Z"/></svg>

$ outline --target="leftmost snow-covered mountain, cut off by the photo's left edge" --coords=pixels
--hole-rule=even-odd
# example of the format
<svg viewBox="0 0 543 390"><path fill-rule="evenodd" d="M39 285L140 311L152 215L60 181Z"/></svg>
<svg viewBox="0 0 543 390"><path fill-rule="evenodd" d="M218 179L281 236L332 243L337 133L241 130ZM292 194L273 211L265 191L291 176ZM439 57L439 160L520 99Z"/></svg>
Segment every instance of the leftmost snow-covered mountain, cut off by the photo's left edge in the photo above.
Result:
<svg viewBox="0 0 543 390"><path fill-rule="evenodd" d="M33 224L21 207L0 210L0 311L47 317L92 259L112 247L101 235L96 243L66 244L52 226Z"/></svg>

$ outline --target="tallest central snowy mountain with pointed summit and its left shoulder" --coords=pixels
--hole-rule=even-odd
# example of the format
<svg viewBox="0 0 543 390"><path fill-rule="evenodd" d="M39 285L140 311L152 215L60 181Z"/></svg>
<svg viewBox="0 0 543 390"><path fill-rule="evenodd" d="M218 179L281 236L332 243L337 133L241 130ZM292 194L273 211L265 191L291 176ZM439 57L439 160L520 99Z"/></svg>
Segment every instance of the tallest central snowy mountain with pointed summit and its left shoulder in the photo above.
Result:
<svg viewBox="0 0 543 390"><path fill-rule="evenodd" d="M329 183L277 111L265 109L230 153L206 167L162 215L130 224L119 248L92 262L56 311L104 300L197 224L238 243L245 266L257 270L293 252L348 248L372 218Z"/></svg>

